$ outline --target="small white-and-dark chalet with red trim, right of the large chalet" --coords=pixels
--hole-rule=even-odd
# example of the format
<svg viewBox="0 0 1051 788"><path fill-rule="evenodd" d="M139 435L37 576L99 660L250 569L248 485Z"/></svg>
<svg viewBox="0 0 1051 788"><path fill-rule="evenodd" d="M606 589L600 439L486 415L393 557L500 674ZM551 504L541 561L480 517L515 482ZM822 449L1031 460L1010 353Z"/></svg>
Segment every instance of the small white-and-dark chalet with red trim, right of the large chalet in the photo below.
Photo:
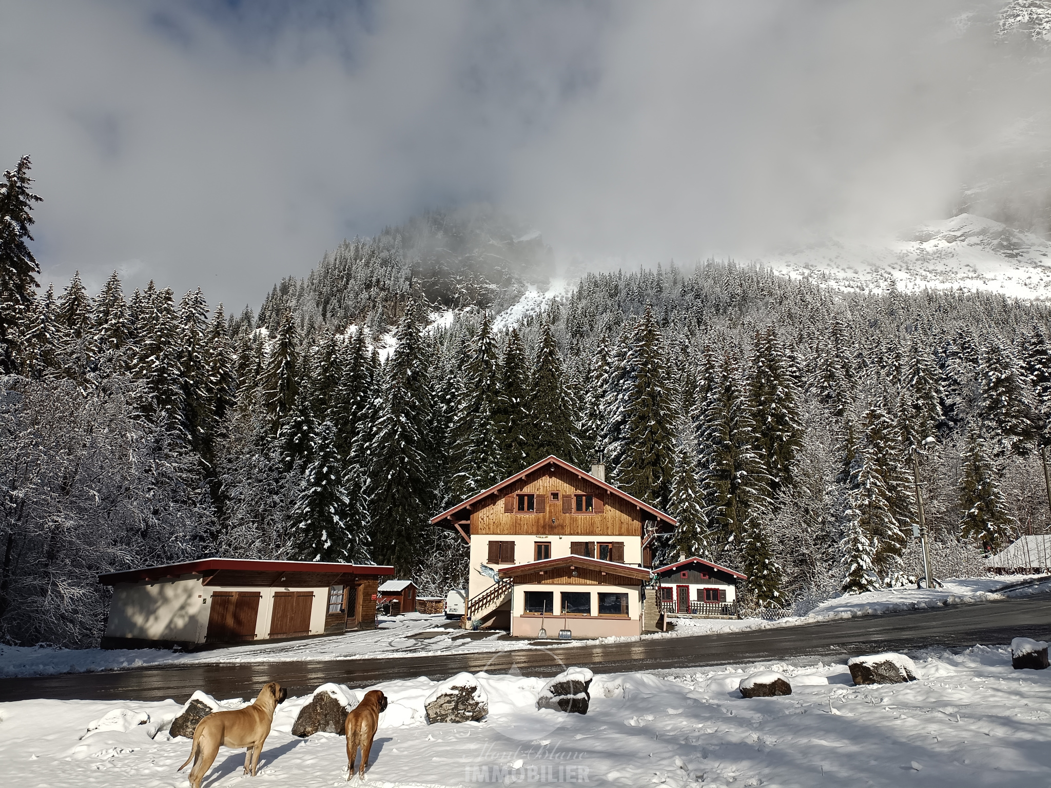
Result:
<svg viewBox="0 0 1051 788"><path fill-rule="evenodd" d="M661 613L679 616L737 617L737 584L747 580L740 572L703 558L680 556L654 569L660 581Z"/></svg>

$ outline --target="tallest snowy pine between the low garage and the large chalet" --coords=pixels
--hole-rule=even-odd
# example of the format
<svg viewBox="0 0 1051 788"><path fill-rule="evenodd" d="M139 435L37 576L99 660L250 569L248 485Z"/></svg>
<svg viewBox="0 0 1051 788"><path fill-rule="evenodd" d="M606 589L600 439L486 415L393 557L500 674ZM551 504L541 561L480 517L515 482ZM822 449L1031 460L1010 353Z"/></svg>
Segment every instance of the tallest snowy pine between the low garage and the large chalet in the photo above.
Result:
<svg viewBox="0 0 1051 788"><path fill-rule="evenodd" d="M408 576L418 565L420 537L431 509L431 418L429 370L423 309L406 305L394 333L397 345L386 367L383 411L373 428L369 500L373 557Z"/></svg>

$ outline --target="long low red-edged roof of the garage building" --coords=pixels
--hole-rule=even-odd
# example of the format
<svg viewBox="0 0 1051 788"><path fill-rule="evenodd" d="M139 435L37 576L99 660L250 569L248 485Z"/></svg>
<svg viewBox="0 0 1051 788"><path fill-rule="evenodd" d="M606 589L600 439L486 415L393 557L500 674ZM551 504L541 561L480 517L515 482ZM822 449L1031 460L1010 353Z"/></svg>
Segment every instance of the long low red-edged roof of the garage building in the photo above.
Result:
<svg viewBox="0 0 1051 788"><path fill-rule="evenodd" d="M242 558L202 558L197 561L143 566L138 569L110 572L99 576L102 585L163 580L184 575L200 575L206 585L269 586L309 588L337 585L351 578L393 576L393 566L353 563L321 563L320 561L255 561Z"/></svg>

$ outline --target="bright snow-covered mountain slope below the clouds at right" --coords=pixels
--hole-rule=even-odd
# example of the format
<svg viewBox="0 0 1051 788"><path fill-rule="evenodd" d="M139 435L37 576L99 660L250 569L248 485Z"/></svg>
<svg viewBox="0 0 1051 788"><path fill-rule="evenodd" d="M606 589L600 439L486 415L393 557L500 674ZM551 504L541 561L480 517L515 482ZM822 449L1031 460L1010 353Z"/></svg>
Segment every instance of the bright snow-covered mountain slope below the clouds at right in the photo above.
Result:
<svg viewBox="0 0 1051 788"><path fill-rule="evenodd" d="M930 222L906 239L831 240L757 262L847 290L963 288L1051 298L1051 242L970 213Z"/></svg>

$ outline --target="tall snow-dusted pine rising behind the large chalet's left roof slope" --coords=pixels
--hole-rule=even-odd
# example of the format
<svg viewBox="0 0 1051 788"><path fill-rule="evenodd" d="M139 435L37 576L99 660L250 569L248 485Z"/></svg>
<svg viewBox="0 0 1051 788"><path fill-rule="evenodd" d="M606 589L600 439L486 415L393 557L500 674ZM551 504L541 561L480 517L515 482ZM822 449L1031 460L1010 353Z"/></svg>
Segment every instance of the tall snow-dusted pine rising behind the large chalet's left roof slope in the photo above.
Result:
<svg viewBox="0 0 1051 788"><path fill-rule="evenodd" d="M451 495L463 500L503 478L501 435L496 424L499 359L488 312L463 366L463 389L452 427L454 473Z"/></svg>

